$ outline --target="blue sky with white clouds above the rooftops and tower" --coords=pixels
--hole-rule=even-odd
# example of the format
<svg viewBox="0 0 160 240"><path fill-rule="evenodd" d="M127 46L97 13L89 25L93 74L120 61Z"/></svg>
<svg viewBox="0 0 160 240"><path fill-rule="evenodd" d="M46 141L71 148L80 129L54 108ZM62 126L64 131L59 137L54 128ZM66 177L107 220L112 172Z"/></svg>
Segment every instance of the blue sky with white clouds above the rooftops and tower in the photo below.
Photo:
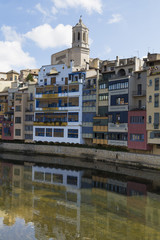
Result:
<svg viewBox="0 0 160 240"><path fill-rule="evenodd" d="M81 15L91 58L160 53L159 9L159 0L0 0L0 72L51 64Z"/></svg>

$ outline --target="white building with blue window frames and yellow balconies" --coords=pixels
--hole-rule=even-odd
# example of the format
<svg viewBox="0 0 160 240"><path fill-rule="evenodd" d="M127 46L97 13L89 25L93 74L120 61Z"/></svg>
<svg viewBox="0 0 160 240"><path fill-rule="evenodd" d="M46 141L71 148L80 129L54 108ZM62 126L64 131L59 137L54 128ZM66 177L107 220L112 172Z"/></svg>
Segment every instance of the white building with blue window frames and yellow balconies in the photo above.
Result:
<svg viewBox="0 0 160 240"><path fill-rule="evenodd" d="M42 66L35 93L34 141L83 143L82 87L85 72L74 64Z"/></svg>

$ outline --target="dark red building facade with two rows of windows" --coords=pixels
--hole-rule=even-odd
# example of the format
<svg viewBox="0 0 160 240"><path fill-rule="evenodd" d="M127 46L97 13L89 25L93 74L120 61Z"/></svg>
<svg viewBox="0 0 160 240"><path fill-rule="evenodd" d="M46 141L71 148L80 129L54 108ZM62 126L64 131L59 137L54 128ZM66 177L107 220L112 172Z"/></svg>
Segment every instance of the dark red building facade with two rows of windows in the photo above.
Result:
<svg viewBox="0 0 160 240"><path fill-rule="evenodd" d="M151 150L147 144L146 111L128 112L128 148Z"/></svg>

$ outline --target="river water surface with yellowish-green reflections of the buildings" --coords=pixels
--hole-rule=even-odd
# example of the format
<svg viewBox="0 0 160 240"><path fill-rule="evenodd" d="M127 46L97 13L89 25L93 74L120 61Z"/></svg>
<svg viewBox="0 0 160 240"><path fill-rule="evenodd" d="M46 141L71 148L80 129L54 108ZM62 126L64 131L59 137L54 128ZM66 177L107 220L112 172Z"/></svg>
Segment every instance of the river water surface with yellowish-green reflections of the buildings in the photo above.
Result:
<svg viewBox="0 0 160 240"><path fill-rule="evenodd" d="M19 233L27 229L30 239L158 240L159 185L157 179L0 162L0 239L24 221Z"/></svg>

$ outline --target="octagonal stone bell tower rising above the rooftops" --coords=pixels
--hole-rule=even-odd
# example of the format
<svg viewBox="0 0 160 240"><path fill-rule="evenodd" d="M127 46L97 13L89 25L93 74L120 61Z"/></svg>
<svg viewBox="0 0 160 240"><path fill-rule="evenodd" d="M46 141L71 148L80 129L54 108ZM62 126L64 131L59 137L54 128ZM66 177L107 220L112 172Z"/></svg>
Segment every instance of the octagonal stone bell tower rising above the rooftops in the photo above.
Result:
<svg viewBox="0 0 160 240"><path fill-rule="evenodd" d="M88 32L89 30L83 24L82 16L80 16L79 22L72 28L72 48L89 48Z"/></svg>

